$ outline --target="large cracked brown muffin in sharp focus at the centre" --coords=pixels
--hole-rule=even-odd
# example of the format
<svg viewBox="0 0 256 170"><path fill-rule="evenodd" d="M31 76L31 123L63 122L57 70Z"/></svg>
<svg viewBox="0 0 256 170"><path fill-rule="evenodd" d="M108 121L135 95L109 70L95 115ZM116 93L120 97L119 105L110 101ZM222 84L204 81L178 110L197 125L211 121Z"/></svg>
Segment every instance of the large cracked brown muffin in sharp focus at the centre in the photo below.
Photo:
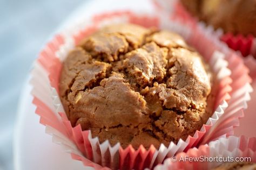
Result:
<svg viewBox="0 0 256 170"><path fill-rule="evenodd" d="M211 72L178 34L106 26L63 63L60 98L72 126L134 148L193 136L212 115Z"/></svg>

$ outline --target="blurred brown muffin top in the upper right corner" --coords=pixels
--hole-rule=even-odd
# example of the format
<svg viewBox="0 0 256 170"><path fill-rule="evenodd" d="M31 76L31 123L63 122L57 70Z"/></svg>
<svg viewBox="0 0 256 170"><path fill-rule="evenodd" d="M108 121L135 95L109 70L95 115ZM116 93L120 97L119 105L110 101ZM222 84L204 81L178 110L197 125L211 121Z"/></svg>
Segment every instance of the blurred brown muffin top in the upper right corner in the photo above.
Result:
<svg viewBox="0 0 256 170"><path fill-rule="evenodd" d="M255 0L181 0L192 15L215 29L256 36Z"/></svg>

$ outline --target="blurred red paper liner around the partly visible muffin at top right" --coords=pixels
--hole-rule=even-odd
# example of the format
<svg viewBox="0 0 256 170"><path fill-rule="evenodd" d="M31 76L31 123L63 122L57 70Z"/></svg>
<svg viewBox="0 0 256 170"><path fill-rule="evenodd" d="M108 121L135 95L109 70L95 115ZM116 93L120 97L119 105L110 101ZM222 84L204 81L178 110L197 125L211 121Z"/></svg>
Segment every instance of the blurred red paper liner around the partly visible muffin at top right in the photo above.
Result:
<svg viewBox="0 0 256 170"><path fill-rule="evenodd" d="M167 1L163 1L158 3L159 5L169 5ZM190 13L184 8L184 6L177 0L173 0L172 8L165 8L165 10L169 10L169 15L171 17L179 17L180 19L186 20L186 22L191 25L204 25L206 30L211 30L214 32L215 36L221 41L225 42L223 46L229 47L234 51L237 51L239 55L244 56L245 65L250 69L250 76L256 80L256 37L253 35L242 36L241 34L233 35L232 33L225 33L219 28L218 30L213 29L211 25L206 26L203 22L199 22L195 17L192 17Z"/></svg>

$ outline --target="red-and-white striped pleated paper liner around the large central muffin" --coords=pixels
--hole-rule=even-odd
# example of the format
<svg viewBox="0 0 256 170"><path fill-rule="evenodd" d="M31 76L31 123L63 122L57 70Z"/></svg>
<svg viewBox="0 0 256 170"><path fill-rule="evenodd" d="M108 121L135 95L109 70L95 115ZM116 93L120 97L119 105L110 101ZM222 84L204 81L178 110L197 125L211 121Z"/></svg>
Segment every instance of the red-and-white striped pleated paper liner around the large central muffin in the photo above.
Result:
<svg viewBox="0 0 256 170"><path fill-rule="evenodd" d="M169 147L161 144L158 150L153 145L148 150L142 145L138 150L134 150L131 145L126 148L122 148L119 143L111 146L108 140L100 144L98 138L91 137L89 130L82 131L80 125L72 128L58 96L62 61L81 38L105 24L120 22L136 23L146 27L157 26L181 34L190 45L197 48L217 75L215 111L193 137L189 136L185 141L180 139L177 144L171 142ZM96 169L144 169L152 168L163 162L166 157L191 147L232 134L233 127L239 125L238 119L243 116L246 102L250 100L248 69L235 53L225 54L221 49L218 52L218 46L208 39L207 33L198 27L191 30L190 25L186 24L179 20L170 20L167 23L152 13L140 12L138 15L131 11L117 11L97 15L55 36L39 55L31 73L36 113L41 117L40 123L46 126L46 133L52 134L53 142L62 145L65 151L71 153L73 159L83 161L85 166Z"/></svg>

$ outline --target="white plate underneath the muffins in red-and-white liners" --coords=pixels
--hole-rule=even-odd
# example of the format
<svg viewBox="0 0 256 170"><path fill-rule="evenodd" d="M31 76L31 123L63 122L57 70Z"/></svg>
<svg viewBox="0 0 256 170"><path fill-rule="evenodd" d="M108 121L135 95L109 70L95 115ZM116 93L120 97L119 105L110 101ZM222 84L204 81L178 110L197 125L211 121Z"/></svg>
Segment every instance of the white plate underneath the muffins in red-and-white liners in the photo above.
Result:
<svg viewBox="0 0 256 170"><path fill-rule="evenodd" d="M106 4L107 3L107 4ZM85 3L65 22L60 29L63 30L66 26L76 22L81 16L90 17L93 13L113 10L113 9L140 9L146 8L153 10L153 6L149 0L137 1L91 1ZM97 6L97 7L96 7ZM107 8L107 9L106 9ZM45 133L45 126L39 124L39 116L35 114L35 106L32 104L32 96L30 95L31 86L29 79L24 85L19 102L18 121L14 133L14 162L17 170L30 169L90 169L85 168L82 162L72 160L70 154L62 151L62 148L52 143L51 136ZM256 83L254 83L256 89ZM245 134L246 136L256 136L256 131L249 131L248 129L255 129L256 124L254 119L253 108L256 103L256 91L252 94L252 101L249 103L251 114L245 112L246 118L241 119L241 125L235 129L235 134ZM252 107L250 107L250 105ZM252 122L249 123L248 122Z"/></svg>

